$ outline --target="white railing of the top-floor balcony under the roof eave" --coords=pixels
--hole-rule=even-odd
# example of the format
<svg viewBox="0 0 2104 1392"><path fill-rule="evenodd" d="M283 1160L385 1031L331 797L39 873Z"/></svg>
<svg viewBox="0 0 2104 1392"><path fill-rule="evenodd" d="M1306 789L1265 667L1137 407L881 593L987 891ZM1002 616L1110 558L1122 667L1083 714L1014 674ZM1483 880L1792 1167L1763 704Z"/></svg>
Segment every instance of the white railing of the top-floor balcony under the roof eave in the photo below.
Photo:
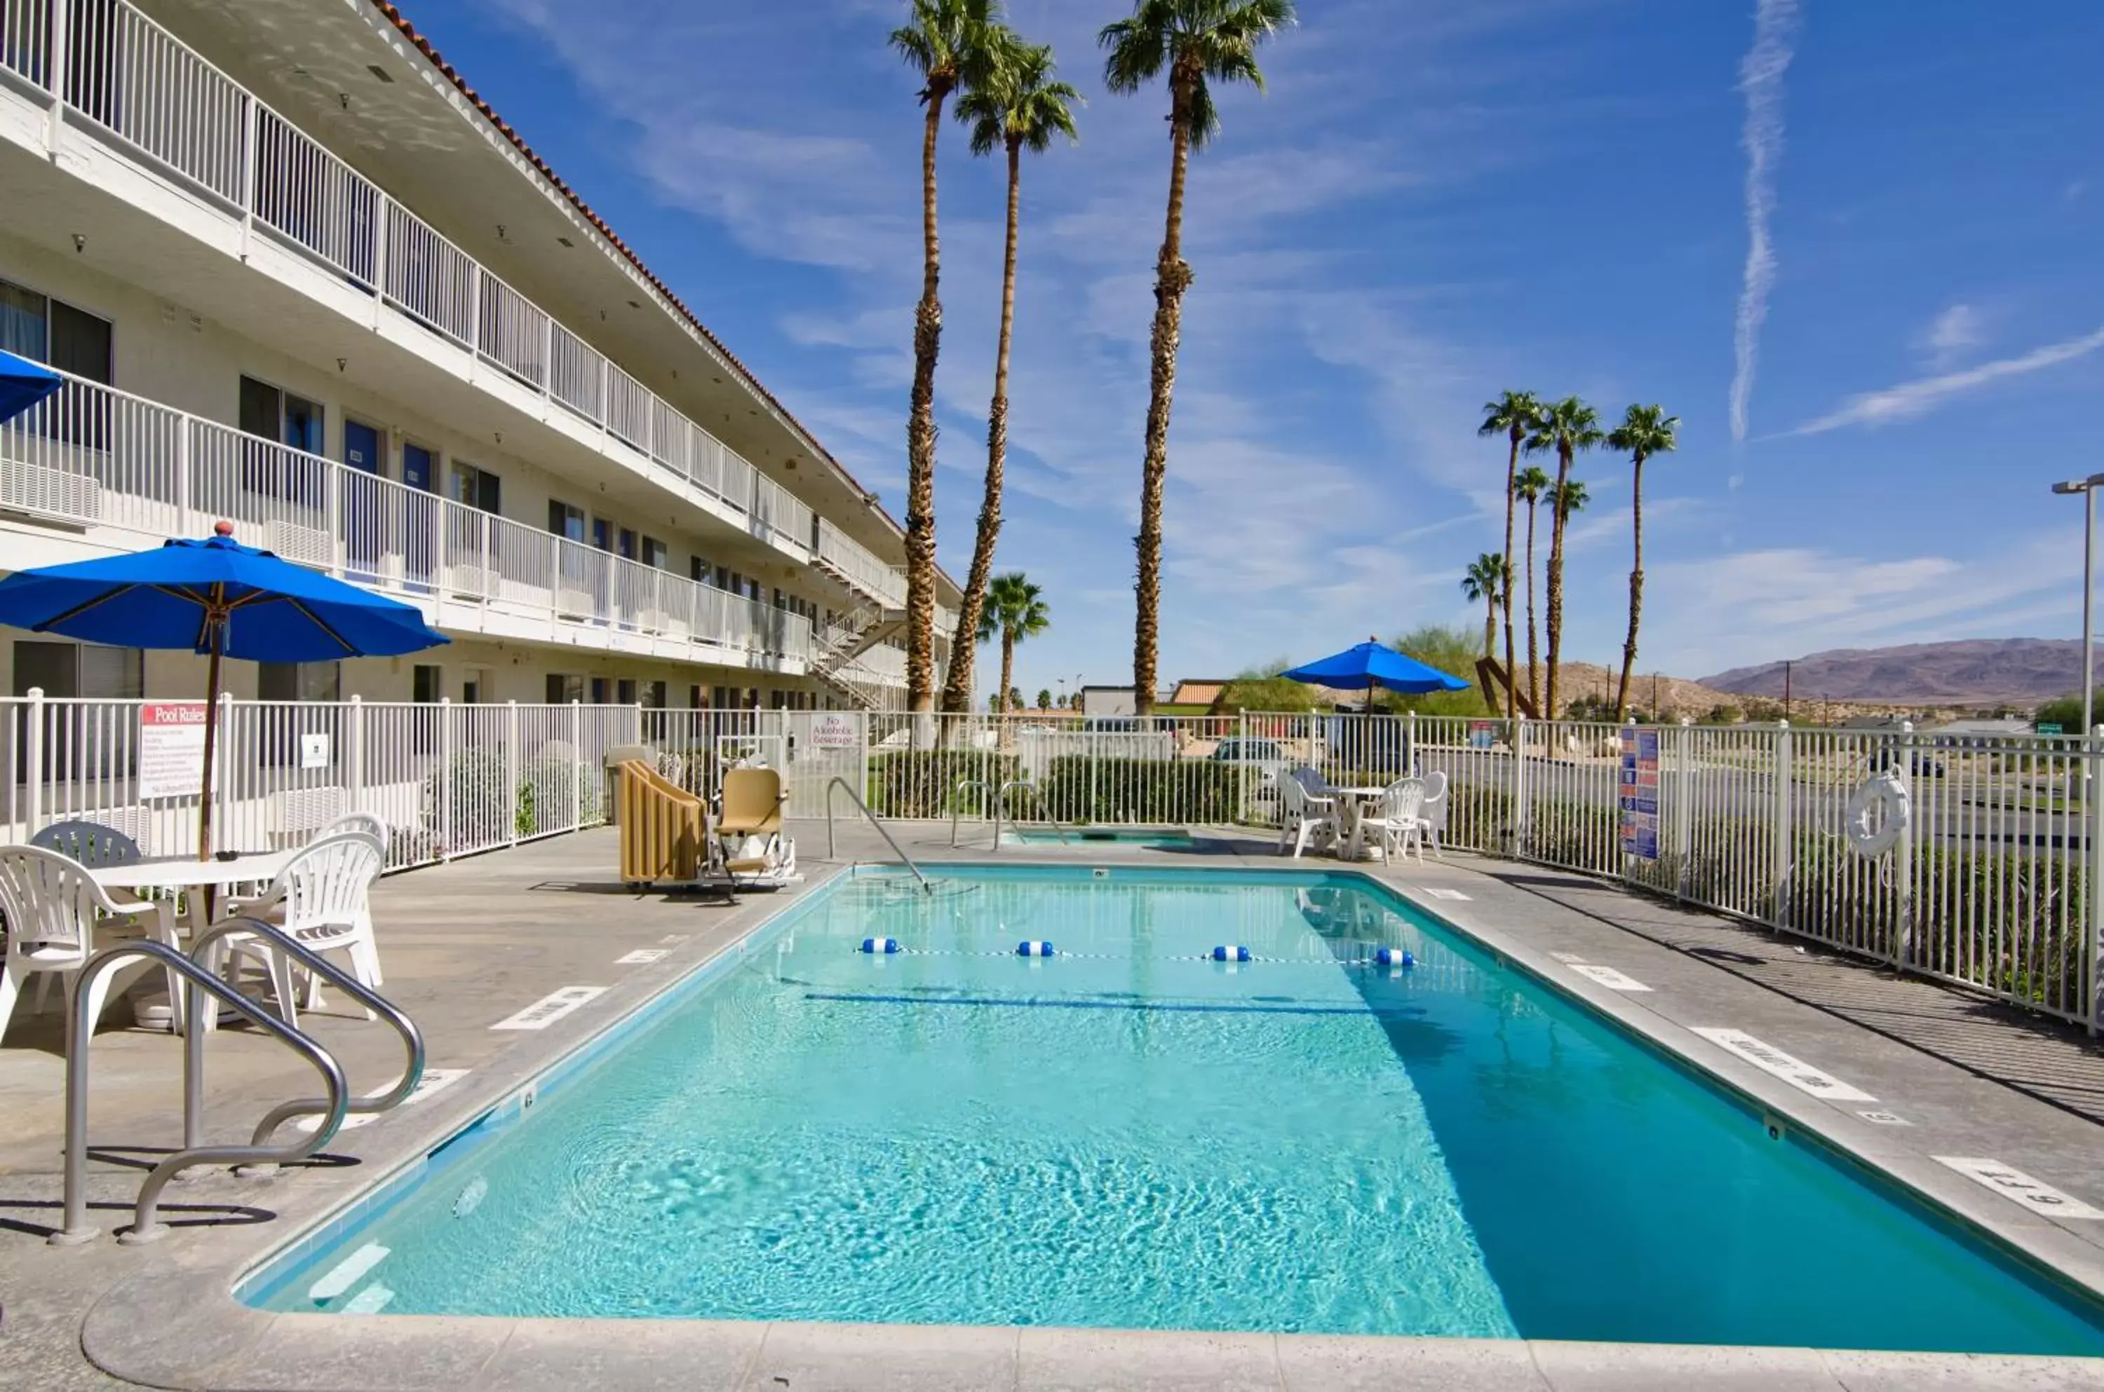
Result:
<svg viewBox="0 0 2104 1392"><path fill-rule="evenodd" d="M804 500L124 0L0 0L0 76L810 553Z"/></svg>

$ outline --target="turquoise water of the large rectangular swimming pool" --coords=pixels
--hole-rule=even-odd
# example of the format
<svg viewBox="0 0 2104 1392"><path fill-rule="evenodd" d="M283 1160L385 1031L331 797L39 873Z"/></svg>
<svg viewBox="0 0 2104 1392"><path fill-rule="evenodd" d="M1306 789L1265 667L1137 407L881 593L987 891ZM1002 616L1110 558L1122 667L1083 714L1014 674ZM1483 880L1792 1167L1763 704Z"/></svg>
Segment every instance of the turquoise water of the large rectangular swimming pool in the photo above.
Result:
<svg viewBox="0 0 2104 1392"><path fill-rule="evenodd" d="M959 875L795 906L246 1297L2104 1352L2096 1310L1361 881Z"/></svg>

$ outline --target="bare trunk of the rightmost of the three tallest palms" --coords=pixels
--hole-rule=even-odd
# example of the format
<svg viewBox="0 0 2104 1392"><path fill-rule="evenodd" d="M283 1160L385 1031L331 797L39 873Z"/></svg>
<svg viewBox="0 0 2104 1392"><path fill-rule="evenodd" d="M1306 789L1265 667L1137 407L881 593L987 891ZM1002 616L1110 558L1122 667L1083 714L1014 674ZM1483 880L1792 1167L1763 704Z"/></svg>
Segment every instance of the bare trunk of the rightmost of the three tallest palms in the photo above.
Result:
<svg viewBox="0 0 2104 1392"><path fill-rule="evenodd" d="M1170 465L1170 397L1176 393L1176 343L1182 334L1182 296L1191 288L1191 267L1182 259L1182 189L1191 166L1191 84L1172 80L1170 103L1170 210L1155 261L1155 328L1149 341L1153 362L1147 400L1147 458L1140 465L1140 534L1136 614L1132 625L1132 707L1155 713L1155 654L1161 625L1161 475Z"/></svg>

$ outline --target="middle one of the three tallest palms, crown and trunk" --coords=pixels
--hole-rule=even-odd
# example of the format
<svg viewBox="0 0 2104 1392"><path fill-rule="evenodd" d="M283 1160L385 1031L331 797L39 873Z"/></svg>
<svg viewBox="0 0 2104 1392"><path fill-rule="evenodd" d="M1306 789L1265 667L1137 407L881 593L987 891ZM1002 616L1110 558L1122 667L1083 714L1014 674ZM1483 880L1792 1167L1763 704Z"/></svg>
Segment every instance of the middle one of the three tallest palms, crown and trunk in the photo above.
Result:
<svg viewBox="0 0 2104 1392"><path fill-rule="evenodd" d="M1052 137L1079 139L1073 107L1081 93L1052 78L1052 46L1025 44L1004 36L989 55L978 82L957 99L957 120L972 128L972 153L1008 151L1008 254L1002 263L1002 332L993 349L993 406L987 410L987 492L978 505L978 538L972 570L964 578L957 606L959 633L978 631L993 572L993 543L1002 534L1002 473L1008 467L1008 345L1016 324L1016 221L1023 210L1023 151L1044 153ZM949 656L943 709L964 711L972 700L972 643L957 643Z"/></svg>

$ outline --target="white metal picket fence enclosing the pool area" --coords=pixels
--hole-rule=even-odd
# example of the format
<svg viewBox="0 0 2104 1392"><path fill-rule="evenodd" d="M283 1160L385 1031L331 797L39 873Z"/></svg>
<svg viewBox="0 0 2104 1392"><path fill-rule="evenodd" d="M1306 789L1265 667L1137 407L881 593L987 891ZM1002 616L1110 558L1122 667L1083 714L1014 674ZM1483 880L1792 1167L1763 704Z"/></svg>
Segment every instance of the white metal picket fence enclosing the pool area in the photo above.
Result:
<svg viewBox="0 0 2104 1392"><path fill-rule="evenodd" d="M196 847L196 791L166 786L141 700L0 700L0 837L84 818L149 854ZM1631 728L1633 730L1633 728ZM789 816L825 816L833 778L884 818L1191 826L1277 820L1277 780L1448 778L1445 845L1597 875L1990 995L2098 1020L2104 763L2096 738L1913 730L1650 728L1656 856L1620 835L1624 728L1445 717L1246 713L1151 721L861 711L225 700L215 839L263 849L377 812L393 864L593 826L606 757L644 746L699 795L722 770L785 772ZM1854 849L1847 803L1891 772L1898 843ZM2089 778L2091 782L2085 782Z"/></svg>

